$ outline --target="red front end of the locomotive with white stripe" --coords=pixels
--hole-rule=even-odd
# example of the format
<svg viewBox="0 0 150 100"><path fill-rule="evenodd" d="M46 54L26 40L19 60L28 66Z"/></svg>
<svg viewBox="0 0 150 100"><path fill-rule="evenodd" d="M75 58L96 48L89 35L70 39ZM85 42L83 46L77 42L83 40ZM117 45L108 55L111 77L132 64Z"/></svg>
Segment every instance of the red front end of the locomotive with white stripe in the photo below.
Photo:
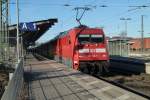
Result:
<svg viewBox="0 0 150 100"><path fill-rule="evenodd" d="M77 37L80 69L90 73L108 71L109 55L104 33L101 29L87 29Z"/></svg>

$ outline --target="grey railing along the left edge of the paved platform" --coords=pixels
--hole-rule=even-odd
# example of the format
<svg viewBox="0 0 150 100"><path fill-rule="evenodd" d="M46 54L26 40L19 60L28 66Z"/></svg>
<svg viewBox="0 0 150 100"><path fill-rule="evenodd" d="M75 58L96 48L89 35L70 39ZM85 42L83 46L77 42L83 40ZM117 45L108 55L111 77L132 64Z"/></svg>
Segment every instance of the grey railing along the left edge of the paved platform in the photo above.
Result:
<svg viewBox="0 0 150 100"><path fill-rule="evenodd" d="M21 100L24 87L23 63L23 59L21 59L18 64L16 64L16 70L13 73L1 100Z"/></svg>

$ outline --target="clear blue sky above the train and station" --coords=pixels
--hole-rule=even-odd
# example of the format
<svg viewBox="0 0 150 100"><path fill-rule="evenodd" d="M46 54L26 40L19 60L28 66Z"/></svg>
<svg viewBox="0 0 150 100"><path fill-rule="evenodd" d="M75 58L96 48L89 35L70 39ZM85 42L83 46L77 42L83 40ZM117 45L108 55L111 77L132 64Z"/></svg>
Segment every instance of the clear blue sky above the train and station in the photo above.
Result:
<svg viewBox="0 0 150 100"><path fill-rule="evenodd" d="M10 24L16 24L16 0L10 0ZM64 6L68 4L70 6ZM106 5L107 7L101 7ZM136 9L137 6L146 5ZM144 37L150 37L150 0L19 0L19 21L31 22L57 18L58 23L52 26L38 42L46 42L59 32L78 26L75 20L75 7L88 6L91 10L85 12L82 24L89 27L103 27L106 36L119 36L125 31L127 21L127 36L141 36L141 15L144 15ZM94 6L94 7L93 7Z"/></svg>

